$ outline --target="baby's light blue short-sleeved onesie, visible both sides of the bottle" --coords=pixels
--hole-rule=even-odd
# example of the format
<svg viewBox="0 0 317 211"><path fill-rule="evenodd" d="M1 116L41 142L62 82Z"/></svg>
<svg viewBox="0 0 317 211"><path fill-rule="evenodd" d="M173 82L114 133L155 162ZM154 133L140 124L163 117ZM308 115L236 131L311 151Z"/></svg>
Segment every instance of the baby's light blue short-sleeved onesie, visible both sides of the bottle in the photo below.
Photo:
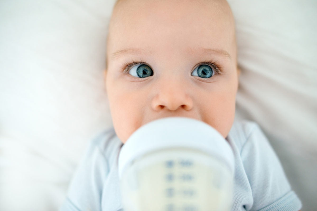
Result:
<svg viewBox="0 0 317 211"><path fill-rule="evenodd" d="M282 166L256 123L235 122L226 138L235 156L232 211L298 211ZM71 181L60 211L122 209L118 156L122 143L113 129L95 139Z"/></svg>

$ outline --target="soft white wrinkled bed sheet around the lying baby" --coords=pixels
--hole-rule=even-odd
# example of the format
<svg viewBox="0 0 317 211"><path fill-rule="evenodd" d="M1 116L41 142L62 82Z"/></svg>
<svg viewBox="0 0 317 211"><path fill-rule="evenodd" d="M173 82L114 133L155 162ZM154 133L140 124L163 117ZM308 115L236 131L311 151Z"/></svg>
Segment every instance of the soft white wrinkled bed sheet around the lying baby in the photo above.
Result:
<svg viewBox="0 0 317 211"><path fill-rule="evenodd" d="M302 210L317 210L317 1L230 0L255 120ZM87 143L111 126L103 69L113 0L0 1L0 210L57 210Z"/></svg>

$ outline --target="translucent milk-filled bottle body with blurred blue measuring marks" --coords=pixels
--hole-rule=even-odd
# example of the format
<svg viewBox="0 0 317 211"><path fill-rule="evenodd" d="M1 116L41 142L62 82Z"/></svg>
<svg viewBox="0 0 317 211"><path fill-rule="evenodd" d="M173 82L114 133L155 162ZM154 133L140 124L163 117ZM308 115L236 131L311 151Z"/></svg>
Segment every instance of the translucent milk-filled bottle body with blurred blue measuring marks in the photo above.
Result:
<svg viewBox="0 0 317 211"><path fill-rule="evenodd" d="M125 211L229 211L232 172L208 154L159 150L136 160L122 177Z"/></svg>

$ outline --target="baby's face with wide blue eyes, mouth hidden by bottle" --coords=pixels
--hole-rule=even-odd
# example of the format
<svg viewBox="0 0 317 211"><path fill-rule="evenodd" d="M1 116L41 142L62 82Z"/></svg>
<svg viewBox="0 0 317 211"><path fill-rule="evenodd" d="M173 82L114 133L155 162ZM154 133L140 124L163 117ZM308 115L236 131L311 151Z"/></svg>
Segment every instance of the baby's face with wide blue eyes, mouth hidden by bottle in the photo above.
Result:
<svg viewBox="0 0 317 211"><path fill-rule="evenodd" d="M121 0L109 30L107 93L123 143L140 126L170 116L228 135L238 79L226 1Z"/></svg>

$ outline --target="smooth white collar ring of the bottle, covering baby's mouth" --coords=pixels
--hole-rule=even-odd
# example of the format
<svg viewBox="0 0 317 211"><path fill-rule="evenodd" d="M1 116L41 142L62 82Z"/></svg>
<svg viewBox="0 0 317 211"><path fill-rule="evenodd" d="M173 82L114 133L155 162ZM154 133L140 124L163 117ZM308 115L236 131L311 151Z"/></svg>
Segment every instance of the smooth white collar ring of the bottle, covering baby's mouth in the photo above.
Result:
<svg viewBox="0 0 317 211"><path fill-rule="evenodd" d="M136 159L153 151L189 148L220 159L234 173L232 149L210 125L185 117L168 117L143 125L122 146L119 154L119 177Z"/></svg>

